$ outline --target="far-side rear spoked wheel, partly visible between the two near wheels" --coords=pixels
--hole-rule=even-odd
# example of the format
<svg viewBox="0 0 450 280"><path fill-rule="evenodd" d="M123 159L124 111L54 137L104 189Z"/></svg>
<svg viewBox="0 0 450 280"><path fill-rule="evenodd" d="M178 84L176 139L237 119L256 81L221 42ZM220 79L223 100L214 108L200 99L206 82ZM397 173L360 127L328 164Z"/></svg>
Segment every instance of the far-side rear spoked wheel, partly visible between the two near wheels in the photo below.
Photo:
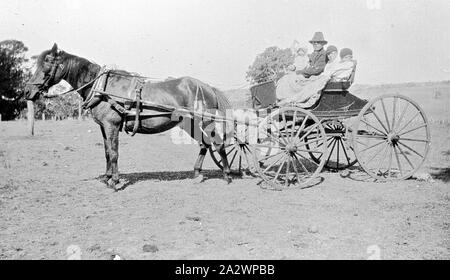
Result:
<svg viewBox="0 0 450 280"><path fill-rule="evenodd" d="M346 139L346 127L340 120L327 120L322 122L327 135L328 157L325 161L325 168L342 170L353 166L356 163L356 157L353 150L349 147ZM315 135L305 137L305 142L314 140ZM319 142L312 142L311 146L306 145L308 149L317 149ZM320 163L323 155L315 153L309 154L311 159Z"/></svg>

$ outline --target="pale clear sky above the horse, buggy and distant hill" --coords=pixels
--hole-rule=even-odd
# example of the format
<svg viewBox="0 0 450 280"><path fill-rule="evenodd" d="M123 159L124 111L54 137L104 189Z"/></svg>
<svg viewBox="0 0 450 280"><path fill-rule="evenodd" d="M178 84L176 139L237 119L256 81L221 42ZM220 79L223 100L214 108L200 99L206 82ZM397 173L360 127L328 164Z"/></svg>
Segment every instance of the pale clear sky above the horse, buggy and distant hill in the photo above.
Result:
<svg viewBox="0 0 450 280"><path fill-rule="evenodd" d="M322 31L358 60L356 83L450 80L449 0L0 0L0 40L164 79L233 89L270 46Z"/></svg>

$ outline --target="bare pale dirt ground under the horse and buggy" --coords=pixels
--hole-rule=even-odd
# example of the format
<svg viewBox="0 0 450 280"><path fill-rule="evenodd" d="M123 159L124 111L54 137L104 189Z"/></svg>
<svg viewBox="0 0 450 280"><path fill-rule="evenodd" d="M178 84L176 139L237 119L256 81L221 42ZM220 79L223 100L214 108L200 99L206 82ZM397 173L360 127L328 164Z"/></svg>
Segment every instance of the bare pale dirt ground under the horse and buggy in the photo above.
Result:
<svg viewBox="0 0 450 280"><path fill-rule="evenodd" d="M24 121L0 122L0 259L450 259L450 125L431 130L420 172L433 180L324 171L281 192L253 177L227 185L209 156L194 184L196 145L121 134L129 183L113 192L97 179L92 120L37 121L34 137Z"/></svg>

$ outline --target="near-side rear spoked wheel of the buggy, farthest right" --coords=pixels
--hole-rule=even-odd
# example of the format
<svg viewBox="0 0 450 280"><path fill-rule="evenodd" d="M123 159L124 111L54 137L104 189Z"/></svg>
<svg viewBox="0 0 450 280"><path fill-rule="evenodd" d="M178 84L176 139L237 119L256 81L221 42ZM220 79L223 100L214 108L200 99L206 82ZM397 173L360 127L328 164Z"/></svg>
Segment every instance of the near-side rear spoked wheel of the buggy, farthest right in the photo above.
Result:
<svg viewBox="0 0 450 280"><path fill-rule="evenodd" d="M361 167L381 181L409 178L428 154L427 117L408 97L382 95L369 102L354 123L352 145Z"/></svg>

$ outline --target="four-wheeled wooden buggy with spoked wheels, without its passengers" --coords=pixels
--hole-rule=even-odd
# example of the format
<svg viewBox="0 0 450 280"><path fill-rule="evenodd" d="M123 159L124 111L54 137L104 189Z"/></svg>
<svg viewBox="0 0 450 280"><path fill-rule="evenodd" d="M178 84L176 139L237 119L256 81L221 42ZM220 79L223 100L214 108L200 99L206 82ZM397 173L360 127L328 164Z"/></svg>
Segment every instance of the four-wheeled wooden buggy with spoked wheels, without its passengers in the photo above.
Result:
<svg viewBox="0 0 450 280"><path fill-rule="evenodd" d="M277 106L273 80L251 87L260 135L256 143L236 137L228 146L232 168L240 170L243 158L252 158L250 168L275 189L307 186L322 168L342 170L356 163L376 180L410 177L430 146L425 113L403 95L358 98L349 92L354 75L353 71L347 81L328 82L309 109L295 103ZM221 167L213 148L211 154Z"/></svg>

